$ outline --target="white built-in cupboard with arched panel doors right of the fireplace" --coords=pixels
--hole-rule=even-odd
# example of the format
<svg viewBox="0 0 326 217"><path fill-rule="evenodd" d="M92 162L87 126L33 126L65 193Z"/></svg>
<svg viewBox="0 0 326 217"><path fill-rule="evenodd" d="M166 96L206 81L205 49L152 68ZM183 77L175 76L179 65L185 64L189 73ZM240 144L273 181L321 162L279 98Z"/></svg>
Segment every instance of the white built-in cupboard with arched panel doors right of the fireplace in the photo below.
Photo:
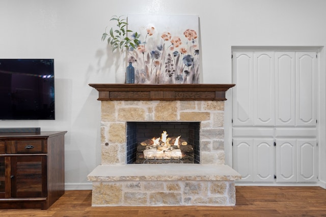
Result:
<svg viewBox="0 0 326 217"><path fill-rule="evenodd" d="M242 182L316 182L317 52L233 51L233 167Z"/></svg>

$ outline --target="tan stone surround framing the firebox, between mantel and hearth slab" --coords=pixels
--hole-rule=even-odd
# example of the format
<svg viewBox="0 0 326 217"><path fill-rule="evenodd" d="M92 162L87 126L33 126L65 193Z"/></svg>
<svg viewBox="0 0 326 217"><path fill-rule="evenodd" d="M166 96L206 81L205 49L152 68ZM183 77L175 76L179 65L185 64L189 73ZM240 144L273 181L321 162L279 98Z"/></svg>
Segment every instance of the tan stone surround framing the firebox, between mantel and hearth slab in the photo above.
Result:
<svg viewBox="0 0 326 217"><path fill-rule="evenodd" d="M102 101L101 107L102 164L126 163L127 121L200 121L201 164L225 163L224 101Z"/></svg>

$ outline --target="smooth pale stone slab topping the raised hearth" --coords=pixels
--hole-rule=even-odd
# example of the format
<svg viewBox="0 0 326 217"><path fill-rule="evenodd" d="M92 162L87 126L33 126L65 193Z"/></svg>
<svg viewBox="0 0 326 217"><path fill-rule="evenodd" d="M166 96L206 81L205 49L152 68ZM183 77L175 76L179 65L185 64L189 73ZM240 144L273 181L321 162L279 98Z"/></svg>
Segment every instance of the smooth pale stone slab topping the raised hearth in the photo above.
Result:
<svg viewBox="0 0 326 217"><path fill-rule="evenodd" d="M90 181L171 181L240 180L241 175L228 165L202 164L128 164L99 165L89 175Z"/></svg>

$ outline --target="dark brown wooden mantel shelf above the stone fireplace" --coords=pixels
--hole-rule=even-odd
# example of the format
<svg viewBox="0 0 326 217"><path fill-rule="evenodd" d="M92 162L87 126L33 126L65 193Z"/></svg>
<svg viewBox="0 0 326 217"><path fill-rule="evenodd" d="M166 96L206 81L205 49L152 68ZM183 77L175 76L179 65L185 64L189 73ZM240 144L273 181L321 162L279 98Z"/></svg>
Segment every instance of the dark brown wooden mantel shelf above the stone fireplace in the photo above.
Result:
<svg viewBox="0 0 326 217"><path fill-rule="evenodd" d="M97 100L227 100L235 84L89 84Z"/></svg>

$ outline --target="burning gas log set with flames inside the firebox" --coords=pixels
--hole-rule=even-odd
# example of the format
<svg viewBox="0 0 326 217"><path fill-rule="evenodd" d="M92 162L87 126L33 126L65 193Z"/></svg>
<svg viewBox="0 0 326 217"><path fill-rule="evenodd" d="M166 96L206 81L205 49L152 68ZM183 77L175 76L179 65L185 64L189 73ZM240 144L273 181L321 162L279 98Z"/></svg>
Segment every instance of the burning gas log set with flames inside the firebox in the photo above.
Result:
<svg viewBox="0 0 326 217"><path fill-rule="evenodd" d="M194 164L194 149L187 141L168 137L163 131L160 137L147 139L137 144L137 164L189 163Z"/></svg>

